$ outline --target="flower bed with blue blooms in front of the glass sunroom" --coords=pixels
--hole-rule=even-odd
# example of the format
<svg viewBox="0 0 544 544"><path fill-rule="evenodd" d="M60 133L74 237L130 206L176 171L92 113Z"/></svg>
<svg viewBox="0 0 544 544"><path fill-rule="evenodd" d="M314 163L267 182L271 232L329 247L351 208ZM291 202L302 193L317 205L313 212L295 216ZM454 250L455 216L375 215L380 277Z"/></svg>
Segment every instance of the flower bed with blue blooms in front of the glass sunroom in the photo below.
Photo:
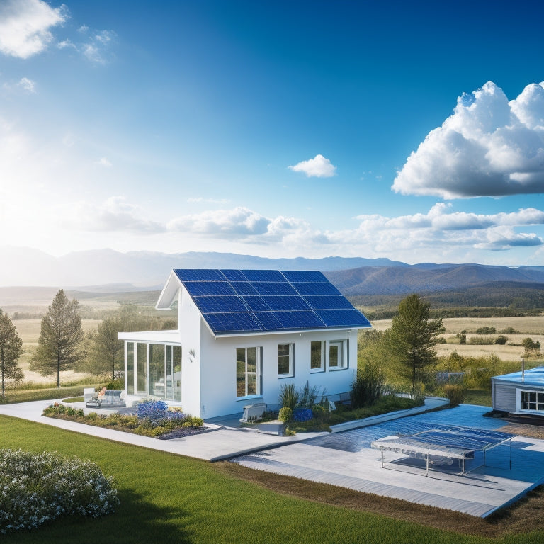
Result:
<svg viewBox="0 0 544 544"><path fill-rule="evenodd" d="M77 423L107 427L115 431L152 436L153 438L178 438L203 431L203 420L183 414L180 409L169 409L166 402L149 400L137 404L136 414L99 415L91 412L85 415L83 409L53 404L43 415L56 419L68 419Z"/></svg>

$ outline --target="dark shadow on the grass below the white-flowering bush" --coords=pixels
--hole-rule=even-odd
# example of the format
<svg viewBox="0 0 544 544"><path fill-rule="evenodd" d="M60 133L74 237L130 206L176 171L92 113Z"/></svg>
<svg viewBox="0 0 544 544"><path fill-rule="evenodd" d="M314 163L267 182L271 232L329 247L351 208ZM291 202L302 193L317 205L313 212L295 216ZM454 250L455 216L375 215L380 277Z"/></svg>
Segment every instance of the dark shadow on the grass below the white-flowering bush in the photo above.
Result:
<svg viewBox="0 0 544 544"><path fill-rule="evenodd" d="M119 544L179 543L193 539L186 529L189 514L180 509L160 508L130 491L119 492L120 504L113 514L100 518L66 516L32 530L1 536L2 544Z"/></svg>

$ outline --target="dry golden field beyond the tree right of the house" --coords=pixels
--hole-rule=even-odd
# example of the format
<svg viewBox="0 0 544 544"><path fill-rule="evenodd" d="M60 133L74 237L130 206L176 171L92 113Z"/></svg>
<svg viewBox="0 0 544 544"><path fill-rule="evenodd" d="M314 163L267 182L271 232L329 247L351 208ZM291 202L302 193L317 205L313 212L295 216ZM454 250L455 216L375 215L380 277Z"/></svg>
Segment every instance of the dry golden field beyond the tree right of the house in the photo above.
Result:
<svg viewBox="0 0 544 544"><path fill-rule="evenodd" d="M539 341L541 346L544 346L544 316L538 317L450 317L443 319L446 332L443 336L448 340L448 344L437 344L436 352L438 356L449 355L453 351L457 351L460 355L473 356L473 357L486 357L489 355L496 355L502 361L519 361L524 353L524 349L521 346L509 346L511 342L514 344L521 344L524 338L530 336L533 341ZM372 325L378 331L385 331L391 327L391 319L380 319L373 321ZM472 345L472 344L458 344L456 342L455 334L460 331L467 331L467 341L473 336L479 336L474 334L476 329L480 327L495 327L497 334L504 329L512 327L521 334L506 334L508 337L508 343L504 346L499 344L488 345ZM472 333L472 334L471 334ZM452 342L452 344L449 344Z"/></svg>

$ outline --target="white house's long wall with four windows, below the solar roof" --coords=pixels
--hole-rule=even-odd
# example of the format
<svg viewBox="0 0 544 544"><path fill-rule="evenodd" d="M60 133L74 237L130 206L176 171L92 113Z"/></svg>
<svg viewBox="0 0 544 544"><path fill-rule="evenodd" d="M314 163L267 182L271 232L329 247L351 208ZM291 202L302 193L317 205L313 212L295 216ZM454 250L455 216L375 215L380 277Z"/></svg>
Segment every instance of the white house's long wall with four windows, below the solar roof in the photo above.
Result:
<svg viewBox="0 0 544 544"><path fill-rule="evenodd" d="M302 387L306 381L326 390L326 395L348 392L357 369L357 330L317 331L291 334L254 334L251 336L218 337L210 334L201 322L200 352L200 416L212 418L243 412L245 404L266 402L278 404L283 384ZM348 361L341 370L329 369L329 341L348 341ZM310 342L326 341L325 370L310 370ZM288 378L278 377L278 344L295 344L295 372ZM236 396L237 348L262 348L262 395ZM185 409L185 402L183 407ZM193 410L196 414L196 410Z"/></svg>

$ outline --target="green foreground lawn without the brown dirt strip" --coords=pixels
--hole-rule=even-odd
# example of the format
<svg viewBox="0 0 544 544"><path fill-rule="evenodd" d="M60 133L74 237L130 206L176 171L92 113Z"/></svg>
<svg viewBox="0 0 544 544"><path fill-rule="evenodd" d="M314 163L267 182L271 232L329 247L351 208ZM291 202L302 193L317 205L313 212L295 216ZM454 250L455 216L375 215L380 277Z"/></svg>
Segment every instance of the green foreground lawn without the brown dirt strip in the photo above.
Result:
<svg viewBox="0 0 544 544"><path fill-rule="evenodd" d="M0 416L0 436L3 448L57 450L94 461L114 477L120 498L111 516L61 519L2 536L2 543L537 544L544 538L543 531L499 540L466 536L319 504L239 479L221 465L7 416Z"/></svg>

